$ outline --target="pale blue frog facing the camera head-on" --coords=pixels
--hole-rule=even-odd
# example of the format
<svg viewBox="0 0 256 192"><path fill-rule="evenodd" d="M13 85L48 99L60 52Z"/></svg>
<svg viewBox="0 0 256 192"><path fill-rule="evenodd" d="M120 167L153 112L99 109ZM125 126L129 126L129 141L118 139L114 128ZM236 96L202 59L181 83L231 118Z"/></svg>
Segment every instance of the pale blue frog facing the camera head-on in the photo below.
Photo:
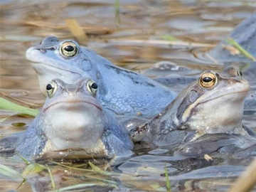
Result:
<svg viewBox="0 0 256 192"><path fill-rule="evenodd" d="M0 141L0 154L29 159L87 159L132 154L127 132L95 98L97 84L52 80L41 112L25 132Z"/></svg>

